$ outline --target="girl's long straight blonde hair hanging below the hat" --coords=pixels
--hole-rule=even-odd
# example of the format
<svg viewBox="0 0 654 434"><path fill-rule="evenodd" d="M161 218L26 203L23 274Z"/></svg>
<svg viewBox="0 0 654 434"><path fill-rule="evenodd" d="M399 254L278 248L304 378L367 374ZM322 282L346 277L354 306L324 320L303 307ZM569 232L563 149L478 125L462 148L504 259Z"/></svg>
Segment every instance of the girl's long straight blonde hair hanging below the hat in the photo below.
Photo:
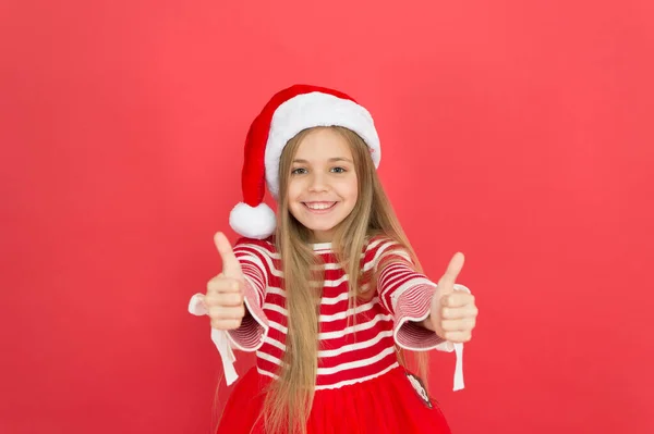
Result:
<svg viewBox="0 0 654 434"><path fill-rule="evenodd" d="M348 142L356 172L359 196L352 212L338 225L332 247L348 274L350 306L370 299L372 290L363 290L361 253L367 240L384 234L409 251L414 268L422 271L404 231L384 193L377 171L363 139L343 127L329 127ZM324 272L311 246L311 233L289 211L288 185L292 160L303 138L315 128L304 129L283 149L279 164L279 204L276 247L281 255L288 333L286 351L278 381L270 383L263 409L267 433L306 433L318 369L318 317ZM398 359L404 364L399 348ZM417 356L420 374L426 375L426 354ZM426 383L426 379L425 379Z"/></svg>

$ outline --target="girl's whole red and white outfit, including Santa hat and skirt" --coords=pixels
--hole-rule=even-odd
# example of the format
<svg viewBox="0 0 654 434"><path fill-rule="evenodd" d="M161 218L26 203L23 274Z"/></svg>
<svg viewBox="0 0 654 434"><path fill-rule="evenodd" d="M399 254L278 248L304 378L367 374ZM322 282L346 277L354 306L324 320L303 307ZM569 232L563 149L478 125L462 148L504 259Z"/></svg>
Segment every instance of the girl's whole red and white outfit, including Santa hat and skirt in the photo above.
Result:
<svg viewBox="0 0 654 434"><path fill-rule="evenodd" d="M237 377L232 348L256 351L257 362L234 386L219 433L264 432L259 418L264 390L277 377L288 325L281 260L270 237L275 214L263 203L264 178L277 197L283 146L302 129L318 125L339 125L358 133L371 148L375 165L379 163L379 139L372 117L344 94L293 86L277 94L254 121L245 145L245 203L237 206L230 216L232 227L245 236L234 246L234 255L245 275L250 315L229 333L211 330L211 337L221 354L228 384ZM352 310L348 276L331 245L316 244L313 248L325 264L325 281L308 433L449 433L436 404L420 381L398 363L396 354L396 346L456 350L455 389L463 387L462 345L444 342L415 323L429 314L436 285L412 270L411 258L401 246L384 236L373 237L361 259L362 288L371 294ZM389 257L396 260L385 261L378 269ZM370 282L374 273L378 273L376 287ZM468 290L460 285L457 289ZM201 296L194 296L190 311L204 313Z"/></svg>

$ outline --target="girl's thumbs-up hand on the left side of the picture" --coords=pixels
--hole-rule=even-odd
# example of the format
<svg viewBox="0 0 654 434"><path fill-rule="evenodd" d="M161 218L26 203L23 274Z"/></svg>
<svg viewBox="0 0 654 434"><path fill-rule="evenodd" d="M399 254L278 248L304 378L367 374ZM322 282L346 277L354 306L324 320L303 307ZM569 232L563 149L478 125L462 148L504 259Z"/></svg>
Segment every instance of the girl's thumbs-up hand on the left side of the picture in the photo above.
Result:
<svg viewBox="0 0 654 434"><path fill-rule="evenodd" d="M217 233L214 243L222 259L222 273L207 283L204 305L211 319L211 327L234 330L245 317L243 271L225 234Z"/></svg>

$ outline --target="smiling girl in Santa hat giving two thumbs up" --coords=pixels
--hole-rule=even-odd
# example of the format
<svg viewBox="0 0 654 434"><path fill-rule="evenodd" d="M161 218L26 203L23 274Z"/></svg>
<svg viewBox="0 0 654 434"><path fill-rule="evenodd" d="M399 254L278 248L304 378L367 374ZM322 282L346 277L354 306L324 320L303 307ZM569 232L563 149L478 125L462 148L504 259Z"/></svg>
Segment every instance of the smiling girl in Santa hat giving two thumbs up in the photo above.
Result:
<svg viewBox="0 0 654 434"><path fill-rule="evenodd" d="M421 272L376 174L373 120L349 96L296 85L272 97L245 142L244 202L222 273L190 311L207 313L228 384L231 348L256 351L218 433L449 433L403 350L456 350L475 326L455 255L438 285ZM264 179L279 224L263 203ZM424 362L423 362L424 367Z"/></svg>

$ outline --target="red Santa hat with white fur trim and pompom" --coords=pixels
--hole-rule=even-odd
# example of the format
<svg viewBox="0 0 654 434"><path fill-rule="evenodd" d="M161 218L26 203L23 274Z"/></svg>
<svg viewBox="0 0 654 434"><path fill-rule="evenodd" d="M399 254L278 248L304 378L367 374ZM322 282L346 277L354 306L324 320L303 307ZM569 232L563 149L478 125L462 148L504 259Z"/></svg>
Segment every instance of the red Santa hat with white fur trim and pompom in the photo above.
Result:
<svg viewBox="0 0 654 434"><path fill-rule="evenodd" d="M240 235L264 239L275 233L275 213L263 202L265 184L279 194L279 160L287 142L303 129L342 126L356 133L371 148L375 168L382 152L373 117L354 99L338 90L294 85L276 94L250 126L242 172L243 202L229 215Z"/></svg>

